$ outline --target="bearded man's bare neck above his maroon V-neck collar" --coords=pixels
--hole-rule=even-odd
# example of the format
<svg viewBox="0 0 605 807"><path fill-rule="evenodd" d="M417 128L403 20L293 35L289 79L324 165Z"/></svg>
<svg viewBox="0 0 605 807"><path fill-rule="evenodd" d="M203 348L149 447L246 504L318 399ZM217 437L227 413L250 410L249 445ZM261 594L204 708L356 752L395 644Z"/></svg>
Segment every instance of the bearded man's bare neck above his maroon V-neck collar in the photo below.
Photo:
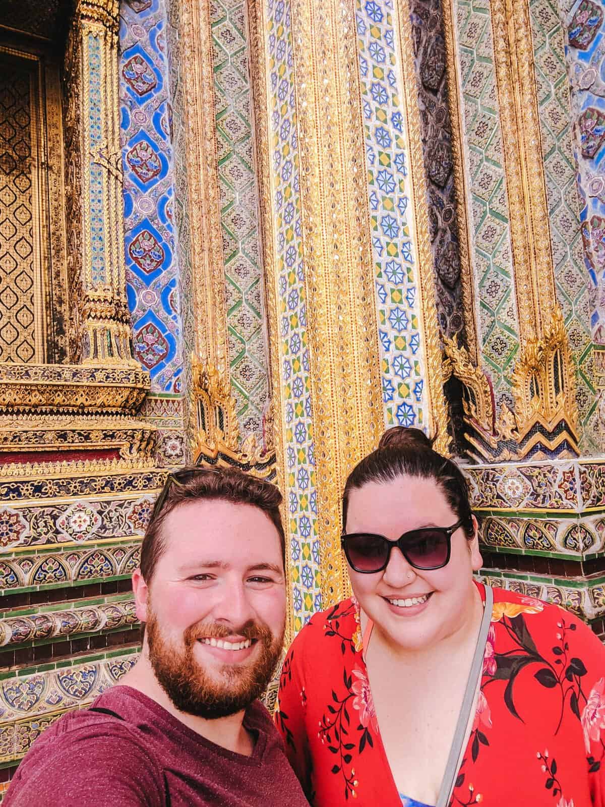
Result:
<svg viewBox="0 0 605 807"><path fill-rule="evenodd" d="M227 751L234 751L236 754L252 755L254 741L244 728L244 712L237 712L228 717L217 717L215 720L179 712L158 683L151 663L144 653L140 655L136 665L119 679L119 684L143 692L187 728L201 734L210 742L215 742L217 746L226 748Z"/></svg>

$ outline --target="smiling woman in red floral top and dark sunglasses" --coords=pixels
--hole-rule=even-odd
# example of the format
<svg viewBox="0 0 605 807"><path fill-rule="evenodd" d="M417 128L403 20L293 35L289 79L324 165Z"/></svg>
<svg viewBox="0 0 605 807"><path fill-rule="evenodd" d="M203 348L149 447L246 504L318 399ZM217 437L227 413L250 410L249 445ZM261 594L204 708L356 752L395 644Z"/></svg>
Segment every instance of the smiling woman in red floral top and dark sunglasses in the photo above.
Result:
<svg viewBox="0 0 605 807"><path fill-rule="evenodd" d="M354 596L298 634L276 712L311 803L603 807L605 649L561 608L474 582L457 466L390 429L348 478L343 529Z"/></svg>

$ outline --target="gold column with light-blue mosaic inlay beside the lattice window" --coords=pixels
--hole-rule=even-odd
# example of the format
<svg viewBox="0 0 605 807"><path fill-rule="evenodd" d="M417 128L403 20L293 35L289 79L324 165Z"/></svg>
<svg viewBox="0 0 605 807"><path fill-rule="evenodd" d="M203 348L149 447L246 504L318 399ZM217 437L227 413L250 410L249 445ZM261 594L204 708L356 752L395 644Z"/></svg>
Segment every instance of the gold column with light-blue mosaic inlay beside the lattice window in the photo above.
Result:
<svg viewBox="0 0 605 807"><path fill-rule="evenodd" d="M138 366L124 271L119 144L118 0L79 0L69 34L66 136L69 275L76 334L72 360ZM152 155L140 154L140 171ZM79 199L78 199L79 197Z"/></svg>

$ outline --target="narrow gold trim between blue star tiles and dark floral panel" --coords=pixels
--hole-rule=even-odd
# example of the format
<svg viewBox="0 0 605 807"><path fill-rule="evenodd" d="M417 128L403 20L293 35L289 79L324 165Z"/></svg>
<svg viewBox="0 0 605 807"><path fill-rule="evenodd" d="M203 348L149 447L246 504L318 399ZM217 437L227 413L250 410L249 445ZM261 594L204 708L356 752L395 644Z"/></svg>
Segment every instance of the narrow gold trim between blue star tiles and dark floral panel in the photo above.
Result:
<svg viewBox="0 0 605 807"><path fill-rule="evenodd" d="M411 209L414 211L416 272L419 278L419 319L424 343L426 388L428 389L429 430L436 434L435 448L448 451L448 410L443 389L441 349L435 296L434 266L428 226L428 195L424 174L424 153L420 136L418 97L416 94L414 46L411 36L410 7L407 0L394 6L398 30L399 61L403 70L403 102L411 165ZM361 125L361 123L360 123ZM408 207L408 209L409 209ZM412 239L414 240L414 239Z"/></svg>

